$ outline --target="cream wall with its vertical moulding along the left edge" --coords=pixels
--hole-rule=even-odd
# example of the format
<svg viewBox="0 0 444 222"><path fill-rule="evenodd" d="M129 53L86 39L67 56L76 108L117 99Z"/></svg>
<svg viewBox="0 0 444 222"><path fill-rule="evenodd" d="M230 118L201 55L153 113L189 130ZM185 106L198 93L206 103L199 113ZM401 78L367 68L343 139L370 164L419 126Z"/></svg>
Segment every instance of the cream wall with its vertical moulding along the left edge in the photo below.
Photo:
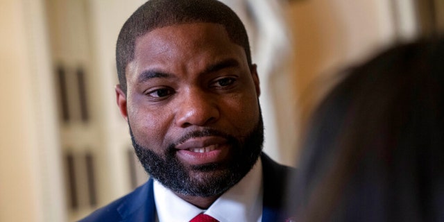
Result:
<svg viewBox="0 0 444 222"><path fill-rule="evenodd" d="M65 221L42 1L0 1L0 221Z"/></svg>

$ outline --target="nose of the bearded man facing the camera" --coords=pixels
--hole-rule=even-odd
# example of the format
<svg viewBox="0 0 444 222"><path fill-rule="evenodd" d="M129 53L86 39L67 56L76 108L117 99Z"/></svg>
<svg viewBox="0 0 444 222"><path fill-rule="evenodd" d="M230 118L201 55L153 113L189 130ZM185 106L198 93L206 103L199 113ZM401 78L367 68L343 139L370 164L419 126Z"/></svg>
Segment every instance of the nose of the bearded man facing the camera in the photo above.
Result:
<svg viewBox="0 0 444 222"><path fill-rule="evenodd" d="M214 97L209 92L191 89L180 96L181 102L176 112L176 125L207 126L219 119L220 110Z"/></svg>

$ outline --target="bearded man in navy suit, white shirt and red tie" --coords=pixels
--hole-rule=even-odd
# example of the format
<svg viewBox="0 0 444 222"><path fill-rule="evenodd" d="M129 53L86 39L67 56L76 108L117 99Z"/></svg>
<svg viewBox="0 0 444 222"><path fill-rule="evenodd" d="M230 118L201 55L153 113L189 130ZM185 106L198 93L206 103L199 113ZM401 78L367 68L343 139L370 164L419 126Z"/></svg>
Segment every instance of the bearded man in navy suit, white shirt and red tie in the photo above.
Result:
<svg viewBox="0 0 444 222"><path fill-rule="evenodd" d="M117 40L117 105L145 185L83 221L277 221L291 169L262 154L259 79L237 15L152 0Z"/></svg>

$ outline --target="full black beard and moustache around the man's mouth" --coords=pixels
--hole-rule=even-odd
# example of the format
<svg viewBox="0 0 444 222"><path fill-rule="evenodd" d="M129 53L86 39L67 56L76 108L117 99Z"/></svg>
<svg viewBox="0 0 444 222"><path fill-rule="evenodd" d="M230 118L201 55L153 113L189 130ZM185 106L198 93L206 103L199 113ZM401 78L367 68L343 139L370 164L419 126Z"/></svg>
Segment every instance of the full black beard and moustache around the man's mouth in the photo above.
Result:
<svg viewBox="0 0 444 222"><path fill-rule="evenodd" d="M176 157L176 144L165 148L164 157L137 143L130 127L135 153L149 176L172 191L186 196L219 196L239 182L253 168L262 153L264 123L259 114L257 125L246 137L237 139L218 130L195 131L176 144L193 137L219 136L232 146L228 162L187 167ZM191 175L192 174L192 175Z"/></svg>

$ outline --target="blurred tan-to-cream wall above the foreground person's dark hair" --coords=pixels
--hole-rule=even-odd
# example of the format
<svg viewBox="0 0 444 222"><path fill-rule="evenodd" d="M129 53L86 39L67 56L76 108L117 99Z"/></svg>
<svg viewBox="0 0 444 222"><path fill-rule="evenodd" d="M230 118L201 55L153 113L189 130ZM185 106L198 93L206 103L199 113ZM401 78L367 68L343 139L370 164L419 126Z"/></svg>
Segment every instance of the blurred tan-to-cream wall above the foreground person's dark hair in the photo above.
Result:
<svg viewBox="0 0 444 222"><path fill-rule="evenodd" d="M291 3L289 19L295 40L294 85L301 117L300 137L311 110L336 83L334 76L339 70L365 60L398 40L414 37L410 6L410 1L401 1L399 7L393 8L389 0ZM396 13L400 27L395 27L394 10L400 10Z"/></svg>

